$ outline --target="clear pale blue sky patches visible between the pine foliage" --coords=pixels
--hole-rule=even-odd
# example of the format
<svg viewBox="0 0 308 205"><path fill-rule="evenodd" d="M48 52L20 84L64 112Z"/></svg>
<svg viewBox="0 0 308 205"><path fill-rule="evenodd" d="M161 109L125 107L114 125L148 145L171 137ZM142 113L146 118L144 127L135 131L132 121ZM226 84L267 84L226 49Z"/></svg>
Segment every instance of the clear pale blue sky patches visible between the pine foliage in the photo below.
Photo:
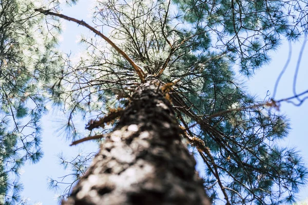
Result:
<svg viewBox="0 0 308 205"><path fill-rule="evenodd" d="M86 17L88 15L87 8L89 8L90 1L80 0L73 8L66 8L63 14L83 19L86 22L91 22L91 19ZM71 22L64 22L65 31L63 33L63 41L61 49L65 52L72 51L78 53L79 46L76 42L76 35L83 32L87 32L83 27ZM292 44L292 58L290 64L281 78L276 99L282 99L293 96L293 76L295 67L297 64L299 51L303 39L299 42ZM288 44L284 42L280 49L276 52L272 52L272 61L270 64L264 66L253 78L250 78L246 85L247 90L251 94L263 99L267 91L273 93L275 81L285 65L288 56ZM307 76L308 76L308 48L305 48L303 52L303 58L299 69L299 75L297 79L297 92L300 93L308 89ZM308 136L305 130L308 122L308 100L300 107L295 107L292 104L281 103L280 114L285 114L290 118L292 130L287 138L280 141L282 146L296 147L303 156L308 166ZM40 202L44 205L55 205L57 200L54 199L54 192L48 190L47 177L52 176L54 178L68 174L59 165L59 158L57 155L63 152L66 156L74 156L81 150L85 152L96 151L97 146L91 142L85 142L83 145L70 147L70 141L66 141L61 136L57 136L56 120L60 118L62 113L60 111L50 111L49 114L43 117L42 125L44 132L43 137L43 151L44 156L40 162L36 165L26 165L23 170L24 173L21 176L21 180L24 183L23 196L30 198L31 202ZM59 116L59 118L57 118ZM308 197L308 185L299 193L299 199L303 200Z"/></svg>

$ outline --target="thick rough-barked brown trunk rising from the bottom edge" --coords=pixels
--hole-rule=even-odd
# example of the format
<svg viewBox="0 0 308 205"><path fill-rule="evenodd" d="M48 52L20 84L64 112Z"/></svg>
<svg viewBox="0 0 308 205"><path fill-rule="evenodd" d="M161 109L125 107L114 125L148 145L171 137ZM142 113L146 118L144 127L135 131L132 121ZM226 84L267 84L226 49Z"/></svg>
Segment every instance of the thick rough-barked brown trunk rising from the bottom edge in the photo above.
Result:
<svg viewBox="0 0 308 205"><path fill-rule="evenodd" d="M148 78L63 205L209 205L195 165L159 81Z"/></svg>

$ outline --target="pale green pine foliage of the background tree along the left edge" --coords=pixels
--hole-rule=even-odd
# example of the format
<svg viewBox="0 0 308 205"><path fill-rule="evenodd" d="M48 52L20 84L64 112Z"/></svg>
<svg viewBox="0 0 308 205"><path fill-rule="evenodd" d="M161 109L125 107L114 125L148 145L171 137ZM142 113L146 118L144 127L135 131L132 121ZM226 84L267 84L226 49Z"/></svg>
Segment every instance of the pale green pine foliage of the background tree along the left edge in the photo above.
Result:
<svg viewBox="0 0 308 205"><path fill-rule="evenodd" d="M39 1L0 1L0 204L23 203L18 176L42 157L43 87L59 67L59 25L42 24ZM53 4L50 4L53 7Z"/></svg>

